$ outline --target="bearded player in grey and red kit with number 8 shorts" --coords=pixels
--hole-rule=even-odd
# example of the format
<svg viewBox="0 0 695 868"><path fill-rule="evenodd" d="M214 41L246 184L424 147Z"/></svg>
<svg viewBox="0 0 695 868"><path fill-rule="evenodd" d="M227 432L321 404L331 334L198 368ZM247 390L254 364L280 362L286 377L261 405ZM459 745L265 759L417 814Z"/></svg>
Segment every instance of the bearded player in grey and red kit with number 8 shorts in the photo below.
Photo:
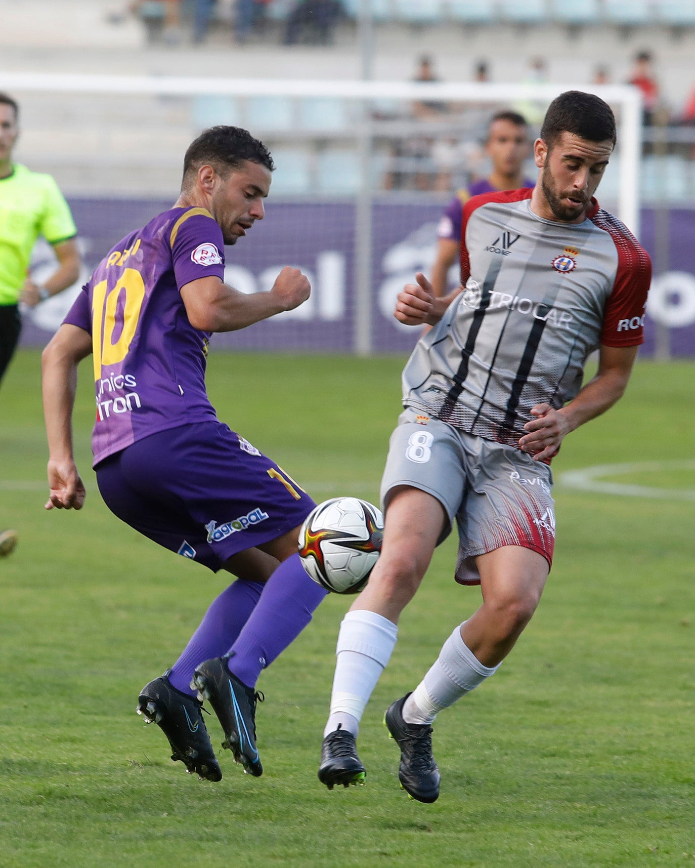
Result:
<svg viewBox="0 0 695 868"><path fill-rule="evenodd" d="M385 723L415 799L439 795L431 724L490 675L541 598L555 519L547 466L570 431L613 406L642 342L651 263L593 199L615 146L599 97L567 91L535 141L533 190L476 196L463 208L464 287L436 298L423 274L396 316L433 325L403 372L405 411L382 481L384 544L338 635L331 713L318 777L364 779L359 720L396 644L397 621L454 523L456 579L482 605L457 626ZM599 369L582 387L599 349Z"/></svg>

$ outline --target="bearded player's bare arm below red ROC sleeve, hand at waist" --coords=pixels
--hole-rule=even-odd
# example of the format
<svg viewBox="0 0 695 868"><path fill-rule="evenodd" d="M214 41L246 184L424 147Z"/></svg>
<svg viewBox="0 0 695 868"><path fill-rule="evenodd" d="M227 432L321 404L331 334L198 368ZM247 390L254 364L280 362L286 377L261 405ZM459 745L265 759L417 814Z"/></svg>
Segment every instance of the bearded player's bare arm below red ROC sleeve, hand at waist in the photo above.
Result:
<svg viewBox="0 0 695 868"><path fill-rule="evenodd" d="M599 370L574 400L560 410L549 404L531 409L536 418L524 425L528 434L519 440L521 449L532 453L536 461L553 457L570 431L609 410L626 390L638 349L601 345Z"/></svg>

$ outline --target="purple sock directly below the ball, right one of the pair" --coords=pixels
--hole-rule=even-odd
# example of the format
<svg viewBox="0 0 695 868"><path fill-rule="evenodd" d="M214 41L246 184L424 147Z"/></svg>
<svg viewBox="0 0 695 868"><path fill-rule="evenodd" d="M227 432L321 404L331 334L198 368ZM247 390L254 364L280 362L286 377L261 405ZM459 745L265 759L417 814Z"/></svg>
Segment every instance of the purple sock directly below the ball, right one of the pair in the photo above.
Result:
<svg viewBox="0 0 695 868"><path fill-rule="evenodd" d="M258 606L229 648L229 671L247 687L255 687L261 670L298 637L325 595L306 574L299 556L288 557L266 582Z"/></svg>

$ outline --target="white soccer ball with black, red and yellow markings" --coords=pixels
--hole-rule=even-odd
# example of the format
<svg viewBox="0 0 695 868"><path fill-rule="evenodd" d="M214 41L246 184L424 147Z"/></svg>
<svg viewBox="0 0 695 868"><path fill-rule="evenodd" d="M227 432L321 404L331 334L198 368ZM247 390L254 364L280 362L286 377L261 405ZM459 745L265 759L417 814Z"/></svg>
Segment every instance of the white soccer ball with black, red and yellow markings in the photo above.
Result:
<svg viewBox="0 0 695 868"><path fill-rule="evenodd" d="M299 557L314 582L334 594L357 594L377 562L384 516L357 497L333 497L306 516Z"/></svg>

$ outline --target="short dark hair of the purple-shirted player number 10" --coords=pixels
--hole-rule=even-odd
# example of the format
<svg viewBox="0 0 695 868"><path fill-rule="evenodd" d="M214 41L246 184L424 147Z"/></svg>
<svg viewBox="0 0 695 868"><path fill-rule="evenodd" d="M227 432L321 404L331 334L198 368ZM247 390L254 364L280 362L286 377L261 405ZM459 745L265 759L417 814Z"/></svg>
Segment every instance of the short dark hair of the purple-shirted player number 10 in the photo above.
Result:
<svg viewBox="0 0 695 868"><path fill-rule="evenodd" d="M275 168L270 151L247 129L211 127L188 146L183 158L182 184L185 185L190 175L201 166L212 166L215 172L225 177L246 161L259 163L271 172Z"/></svg>

